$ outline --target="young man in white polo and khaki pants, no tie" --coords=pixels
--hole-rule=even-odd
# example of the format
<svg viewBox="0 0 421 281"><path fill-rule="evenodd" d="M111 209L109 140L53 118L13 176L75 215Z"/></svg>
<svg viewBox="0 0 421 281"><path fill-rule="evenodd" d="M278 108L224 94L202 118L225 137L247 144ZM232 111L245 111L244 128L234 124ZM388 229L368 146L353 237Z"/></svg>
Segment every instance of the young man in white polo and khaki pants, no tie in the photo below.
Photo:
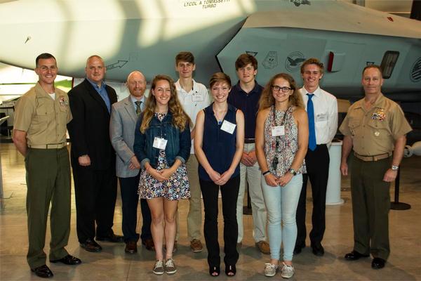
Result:
<svg viewBox="0 0 421 281"><path fill-rule="evenodd" d="M191 132L192 150L191 156L187 161L187 176L189 176L190 194L189 214L187 215L187 235L190 241L190 248L194 252L202 251L201 243L201 191L199 186L199 174L197 172L198 163L194 156L194 124L196 124L196 116L200 110L210 104L208 89L201 83L194 81L193 72L196 70L194 63L194 55L190 52L180 52L175 56L175 70L178 72L178 81L175 82L177 88L178 99L182 104L183 110L189 115L193 122ZM177 231L178 237L178 231ZM176 239L177 240L177 239Z"/></svg>

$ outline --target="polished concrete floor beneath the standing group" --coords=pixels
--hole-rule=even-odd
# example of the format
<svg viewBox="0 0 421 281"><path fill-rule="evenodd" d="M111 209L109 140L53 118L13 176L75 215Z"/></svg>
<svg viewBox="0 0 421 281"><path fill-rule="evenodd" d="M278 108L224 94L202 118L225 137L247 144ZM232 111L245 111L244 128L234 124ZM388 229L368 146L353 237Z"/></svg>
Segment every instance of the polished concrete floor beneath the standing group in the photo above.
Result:
<svg viewBox="0 0 421 281"><path fill-rule="evenodd" d="M11 143L1 143L4 199L0 211L0 280L41 280L29 271L27 254L27 217L25 210L25 167L23 158ZM403 159L401 165L400 201L411 205L406 211L390 211L390 242L392 254L387 266L373 270L370 259L345 261L352 250L352 209L349 179L342 178L342 205L326 207L326 233L323 246L326 254L316 257L309 247L294 257L295 280L421 280L421 157ZM46 167L48 169L48 167ZM307 192L311 196L311 192ZM391 188L393 198L394 188ZM307 198L307 208L310 198ZM194 254L187 241L186 216L188 202L180 202L180 240L174 258L178 265L175 275L156 276L152 273L154 252L139 247L138 254L124 253L123 244L101 243L101 253L89 253L79 247L76 238L76 209L72 194L72 229L67 250L78 256L79 266L48 264L54 280L213 280L208 275L206 249ZM310 228L310 214L307 227ZM141 225L141 221L138 223ZM220 231L222 231L222 217ZM260 254L251 237L252 218L245 216L246 237L240 250L235 277L221 274L220 280L269 280L263 275L269 256ZM121 200L117 200L114 232L121 234ZM46 252L50 240L47 230ZM203 240L202 240L203 241ZM222 233L220 233L222 241ZM307 243L309 241L307 240ZM308 246L308 245L307 245ZM222 251L221 251L222 252ZM223 270L223 267L222 267ZM280 280L280 274L273 277Z"/></svg>

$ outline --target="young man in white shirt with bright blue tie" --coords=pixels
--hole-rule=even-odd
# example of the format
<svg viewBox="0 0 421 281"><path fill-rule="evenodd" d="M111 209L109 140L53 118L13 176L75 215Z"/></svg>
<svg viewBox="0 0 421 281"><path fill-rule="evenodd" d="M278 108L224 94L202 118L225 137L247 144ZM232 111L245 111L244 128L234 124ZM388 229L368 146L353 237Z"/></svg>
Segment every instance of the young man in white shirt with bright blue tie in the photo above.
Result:
<svg viewBox="0 0 421 281"><path fill-rule="evenodd" d="M316 58L309 58L301 66L304 86L300 89L309 117L309 149L305 157L307 174L302 177L302 190L297 208L298 235L294 254L300 254L305 247L307 235L305 227L307 180L312 185L313 212L312 231L309 233L312 252L323 256L321 245L326 228L326 188L329 175L328 148L338 130L338 103L335 96L320 89L319 81L323 77L323 63Z"/></svg>

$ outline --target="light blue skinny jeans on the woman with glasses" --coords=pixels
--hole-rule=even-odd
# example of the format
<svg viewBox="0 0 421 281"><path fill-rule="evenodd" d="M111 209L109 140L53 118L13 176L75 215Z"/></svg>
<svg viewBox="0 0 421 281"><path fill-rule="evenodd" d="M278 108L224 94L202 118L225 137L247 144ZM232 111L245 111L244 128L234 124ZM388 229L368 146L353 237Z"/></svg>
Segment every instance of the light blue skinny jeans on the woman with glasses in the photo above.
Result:
<svg viewBox="0 0 421 281"><path fill-rule="evenodd" d="M298 200L302 188L302 174L297 174L285 186L267 185L262 177L262 191L267 209L267 229L269 235L270 257L279 260L283 244L283 260L292 261L295 240L297 239Z"/></svg>

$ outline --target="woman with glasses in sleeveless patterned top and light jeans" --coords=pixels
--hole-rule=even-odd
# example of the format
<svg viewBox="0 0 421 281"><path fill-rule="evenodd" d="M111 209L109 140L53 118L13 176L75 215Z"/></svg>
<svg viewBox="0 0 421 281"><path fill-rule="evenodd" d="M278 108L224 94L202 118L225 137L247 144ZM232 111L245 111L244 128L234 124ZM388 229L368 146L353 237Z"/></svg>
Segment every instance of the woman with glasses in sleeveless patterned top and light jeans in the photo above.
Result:
<svg viewBox="0 0 421 281"><path fill-rule="evenodd" d="M295 212L305 173L308 135L307 113L293 77L276 74L262 92L256 122L256 155L263 175L271 255L265 264L266 276L274 276L279 269L281 244L281 276L294 275Z"/></svg>

